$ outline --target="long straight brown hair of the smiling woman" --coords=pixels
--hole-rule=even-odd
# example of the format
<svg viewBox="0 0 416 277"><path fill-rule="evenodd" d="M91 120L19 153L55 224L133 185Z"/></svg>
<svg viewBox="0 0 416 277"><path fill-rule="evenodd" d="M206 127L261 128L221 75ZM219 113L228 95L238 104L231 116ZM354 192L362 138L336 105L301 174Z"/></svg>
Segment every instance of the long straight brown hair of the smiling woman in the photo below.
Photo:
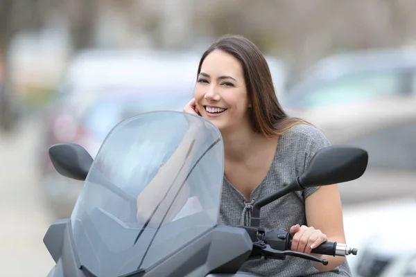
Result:
<svg viewBox="0 0 416 277"><path fill-rule="evenodd" d="M245 86L252 102L250 121L255 132L268 137L280 136L294 125L309 124L286 114L277 100L265 57L254 43L241 35L224 35L209 46L200 59L198 74L205 57L216 50L234 56L243 66Z"/></svg>

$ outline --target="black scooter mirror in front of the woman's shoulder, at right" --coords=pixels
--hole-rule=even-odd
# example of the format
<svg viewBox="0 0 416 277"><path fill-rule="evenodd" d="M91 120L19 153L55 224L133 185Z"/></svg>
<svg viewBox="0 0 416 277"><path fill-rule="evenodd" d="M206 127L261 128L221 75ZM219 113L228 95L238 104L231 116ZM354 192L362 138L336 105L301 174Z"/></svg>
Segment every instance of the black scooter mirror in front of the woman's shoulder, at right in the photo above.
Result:
<svg viewBox="0 0 416 277"><path fill-rule="evenodd" d="M333 145L316 152L297 180L302 188L352 181L367 169L368 153L361 148Z"/></svg>

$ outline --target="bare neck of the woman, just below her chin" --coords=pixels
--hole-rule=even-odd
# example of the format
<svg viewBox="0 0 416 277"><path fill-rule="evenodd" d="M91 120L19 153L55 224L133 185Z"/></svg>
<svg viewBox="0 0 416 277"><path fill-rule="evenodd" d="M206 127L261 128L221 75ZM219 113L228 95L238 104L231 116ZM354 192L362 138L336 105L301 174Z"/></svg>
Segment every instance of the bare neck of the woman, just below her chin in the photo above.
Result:
<svg viewBox="0 0 416 277"><path fill-rule="evenodd" d="M245 162L263 148L265 143L274 143L263 134L256 133L252 128L241 128L234 132L221 133L224 141L225 159L233 162Z"/></svg>

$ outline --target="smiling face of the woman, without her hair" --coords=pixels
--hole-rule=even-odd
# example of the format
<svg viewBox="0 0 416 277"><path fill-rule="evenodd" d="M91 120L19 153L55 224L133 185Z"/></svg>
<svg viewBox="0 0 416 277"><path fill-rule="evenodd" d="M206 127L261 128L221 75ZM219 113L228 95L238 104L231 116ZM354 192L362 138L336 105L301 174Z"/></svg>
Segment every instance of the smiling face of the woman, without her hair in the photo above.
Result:
<svg viewBox="0 0 416 277"><path fill-rule="evenodd" d="M195 87L196 107L221 132L248 123L251 107L239 60L213 51L202 62Z"/></svg>

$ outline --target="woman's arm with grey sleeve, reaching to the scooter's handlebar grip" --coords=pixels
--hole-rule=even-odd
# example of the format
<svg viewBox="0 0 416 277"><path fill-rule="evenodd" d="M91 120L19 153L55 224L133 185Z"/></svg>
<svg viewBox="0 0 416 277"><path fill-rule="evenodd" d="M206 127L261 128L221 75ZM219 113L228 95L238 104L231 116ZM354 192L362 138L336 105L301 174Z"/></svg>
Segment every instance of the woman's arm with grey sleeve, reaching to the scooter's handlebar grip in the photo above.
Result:
<svg viewBox="0 0 416 277"><path fill-rule="evenodd" d="M315 154L331 143L317 128L303 127L304 134L299 138L300 161L304 160L299 174L302 174ZM292 250L311 253L312 248L318 247L322 242L345 243L343 208L340 193L336 184L320 186L319 188L305 188L303 191L305 201L305 216L307 226L292 226L290 233L293 235ZM312 248L311 248L312 247ZM314 256L322 256L312 254ZM345 257L324 256L329 261L328 265L313 262L316 269L329 271L338 267L345 261Z"/></svg>

